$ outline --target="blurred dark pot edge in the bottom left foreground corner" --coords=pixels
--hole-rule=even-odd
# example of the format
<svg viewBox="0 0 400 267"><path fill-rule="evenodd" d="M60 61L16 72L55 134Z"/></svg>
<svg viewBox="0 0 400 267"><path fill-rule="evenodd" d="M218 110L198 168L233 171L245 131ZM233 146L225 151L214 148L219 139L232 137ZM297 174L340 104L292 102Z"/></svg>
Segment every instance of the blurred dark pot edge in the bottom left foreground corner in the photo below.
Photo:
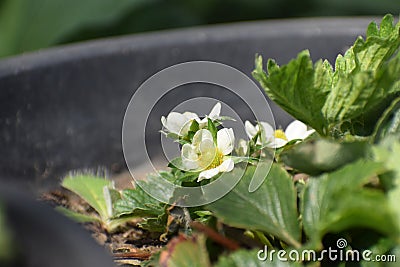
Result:
<svg viewBox="0 0 400 267"><path fill-rule="evenodd" d="M112 267L113 261L82 226L51 207L34 201L15 185L0 183L9 232L13 235L12 262L4 267ZM4 234L1 229L0 234ZM4 248L2 248L4 249Z"/></svg>

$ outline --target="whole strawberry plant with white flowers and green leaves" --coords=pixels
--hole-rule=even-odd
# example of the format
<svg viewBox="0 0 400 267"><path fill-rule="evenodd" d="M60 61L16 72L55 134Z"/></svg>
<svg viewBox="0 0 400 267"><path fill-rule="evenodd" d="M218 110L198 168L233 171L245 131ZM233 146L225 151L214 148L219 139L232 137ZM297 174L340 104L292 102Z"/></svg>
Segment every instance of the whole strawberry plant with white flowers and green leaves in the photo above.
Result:
<svg viewBox="0 0 400 267"><path fill-rule="evenodd" d="M347 241L345 252L400 256L399 34L400 23L387 15L379 28L371 23L366 38L359 37L334 66L313 63L308 51L281 67L271 59L264 66L257 56L254 78L297 119L285 131L245 122L249 140L235 142L233 130L223 127L229 118L220 116L220 104L205 118L172 112L162 118L163 133L181 144L181 156L169 171L122 191L87 176L68 177L63 186L98 211L96 220L109 231L141 217L141 227L170 240L149 265L323 266L326 259L262 262L254 244L321 253L337 248L340 238ZM256 168L271 157L265 180L249 192ZM141 189L163 192L159 179L201 186L237 172L244 175L228 194L201 207L163 204Z"/></svg>

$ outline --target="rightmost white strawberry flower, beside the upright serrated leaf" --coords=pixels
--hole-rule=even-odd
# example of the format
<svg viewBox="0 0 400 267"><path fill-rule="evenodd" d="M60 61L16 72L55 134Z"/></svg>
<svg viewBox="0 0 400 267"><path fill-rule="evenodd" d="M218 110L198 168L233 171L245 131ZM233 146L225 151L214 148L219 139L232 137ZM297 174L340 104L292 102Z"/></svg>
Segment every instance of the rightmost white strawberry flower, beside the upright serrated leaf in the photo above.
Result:
<svg viewBox="0 0 400 267"><path fill-rule="evenodd" d="M267 122L259 122L256 126L249 121L245 122L246 133L249 138L253 138L259 131L261 126L261 135L257 140L257 144L263 144L271 148L279 148L288 142L296 139L303 140L315 132L315 130L307 130L307 125L301 121L295 120L291 122L285 131L281 129L275 130Z"/></svg>

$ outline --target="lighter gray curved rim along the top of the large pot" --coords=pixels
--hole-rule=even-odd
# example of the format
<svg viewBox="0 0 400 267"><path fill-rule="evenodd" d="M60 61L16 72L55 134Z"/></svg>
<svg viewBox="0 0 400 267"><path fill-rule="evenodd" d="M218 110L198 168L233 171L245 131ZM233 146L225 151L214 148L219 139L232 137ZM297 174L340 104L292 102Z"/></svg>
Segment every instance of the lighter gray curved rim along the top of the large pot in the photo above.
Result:
<svg viewBox="0 0 400 267"><path fill-rule="evenodd" d="M371 21L379 17L316 17L272 19L250 22L195 26L180 29L100 38L66 45L44 48L0 60L0 78L52 64L83 60L112 54L147 50L165 44L199 44L213 42L279 37L285 35L326 36L337 33L363 32ZM162 42L160 42L162 40Z"/></svg>

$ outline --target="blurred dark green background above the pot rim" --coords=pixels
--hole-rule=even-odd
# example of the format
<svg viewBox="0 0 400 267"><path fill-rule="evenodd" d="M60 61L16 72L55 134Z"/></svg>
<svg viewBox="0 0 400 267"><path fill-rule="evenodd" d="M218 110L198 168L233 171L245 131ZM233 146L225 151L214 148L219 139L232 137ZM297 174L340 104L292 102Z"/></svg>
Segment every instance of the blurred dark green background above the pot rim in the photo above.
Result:
<svg viewBox="0 0 400 267"><path fill-rule="evenodd" d="M0 57L194 25L400 13L399 0L0 0Z"/></svg>

